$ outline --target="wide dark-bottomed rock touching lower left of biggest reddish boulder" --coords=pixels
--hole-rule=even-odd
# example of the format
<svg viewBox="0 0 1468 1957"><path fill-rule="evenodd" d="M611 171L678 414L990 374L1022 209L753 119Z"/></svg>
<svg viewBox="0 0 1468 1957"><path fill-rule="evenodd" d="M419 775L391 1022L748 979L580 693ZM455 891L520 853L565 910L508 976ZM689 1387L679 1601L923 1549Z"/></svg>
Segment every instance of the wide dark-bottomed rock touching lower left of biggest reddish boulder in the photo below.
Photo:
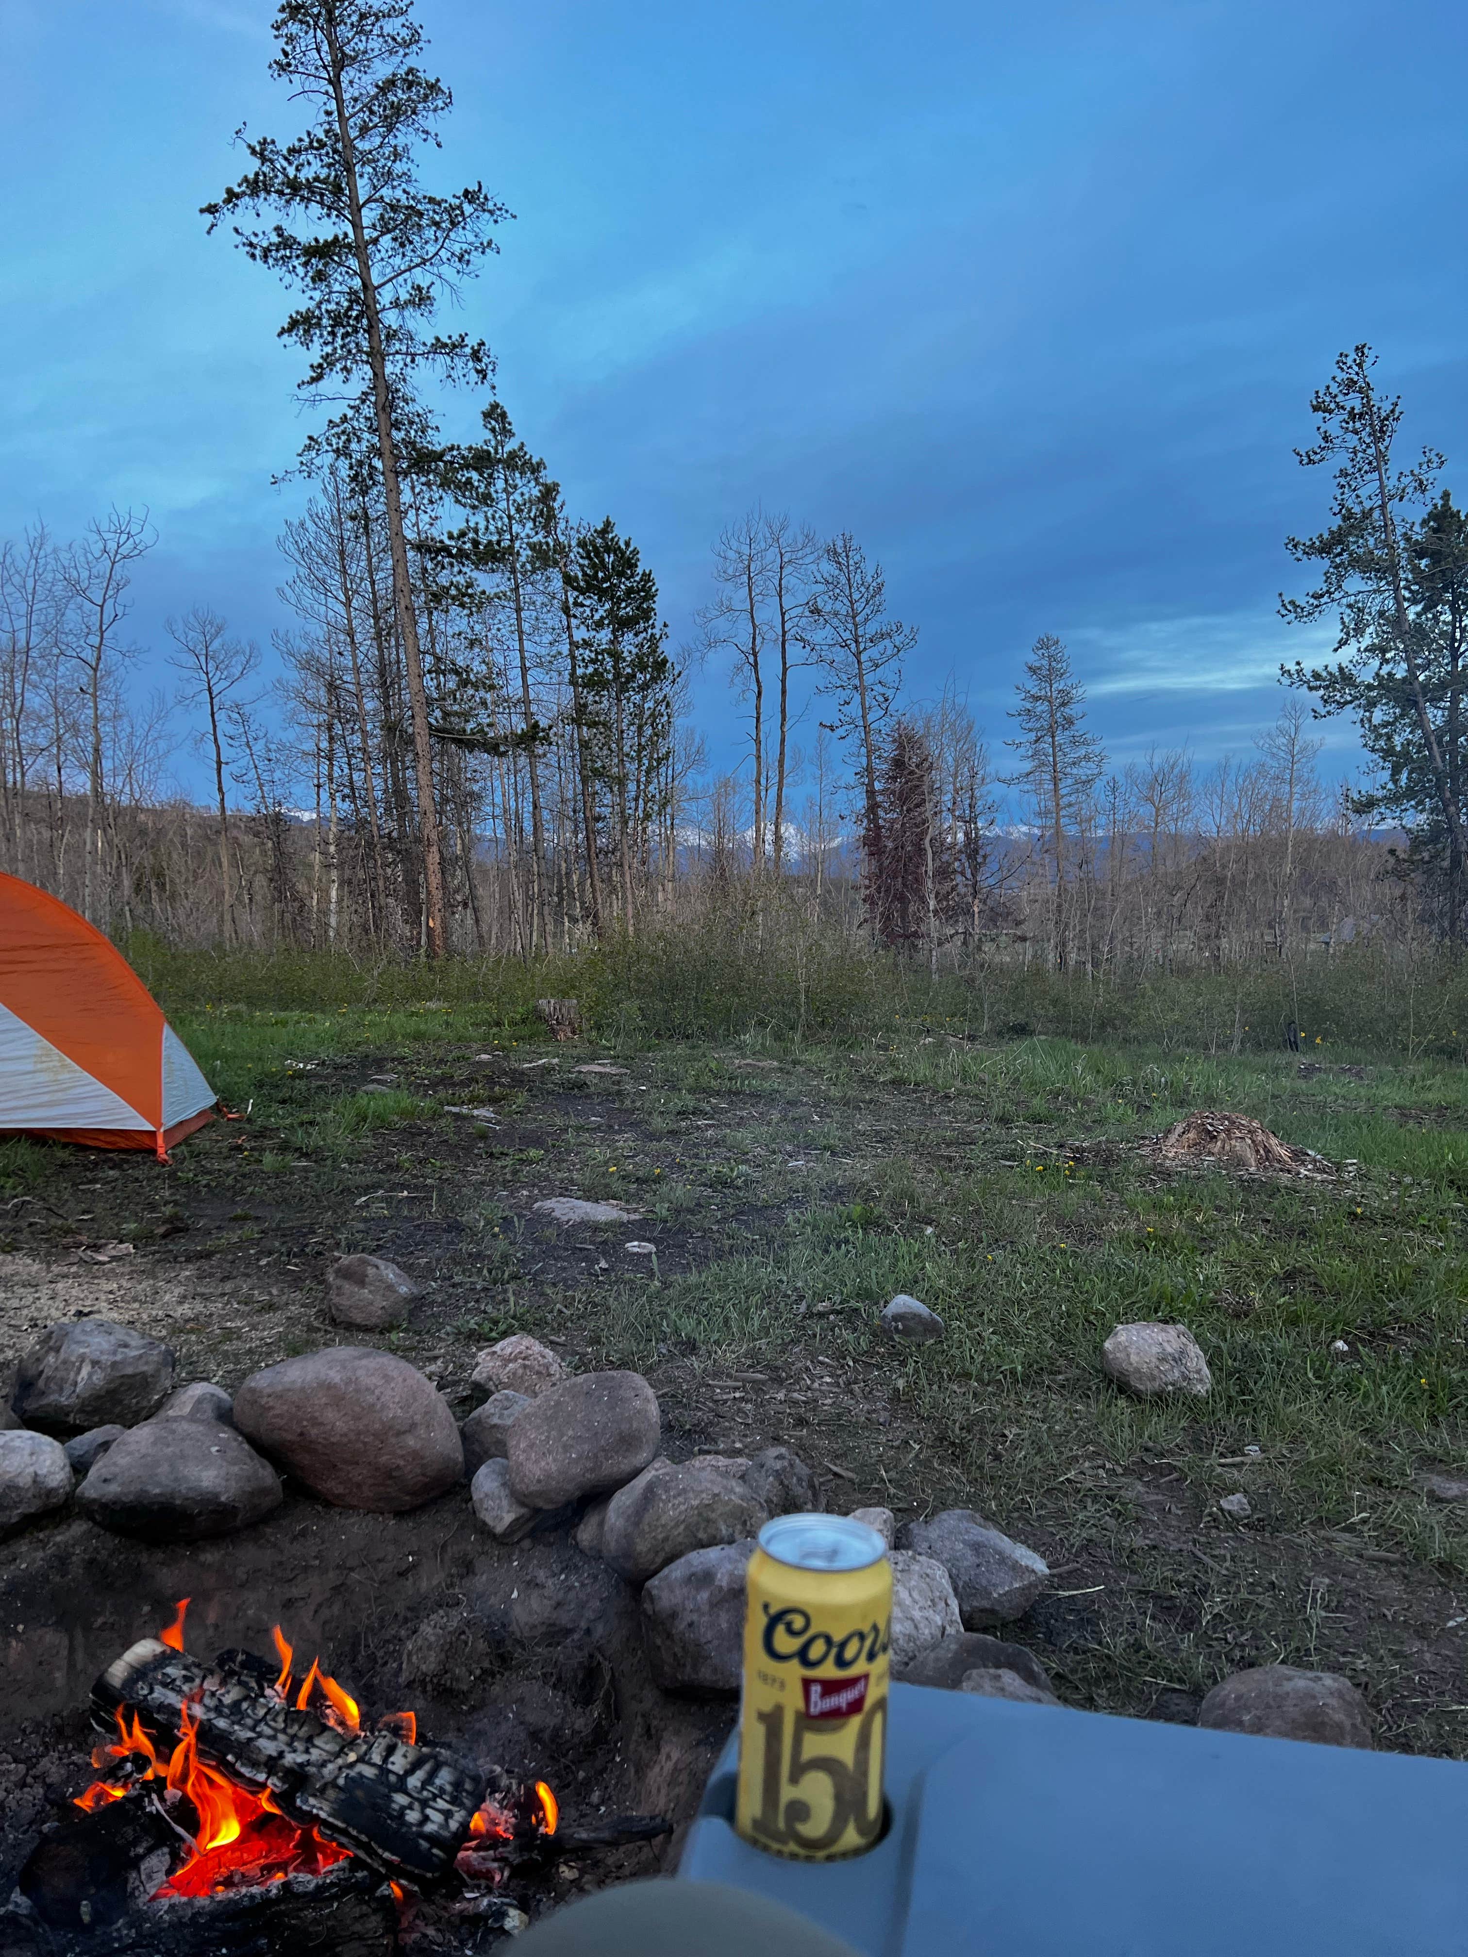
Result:
<svg viewBox="0 0 1468 1957"><path fill-rule="evenodd" d="M233 1427L145 1421L76 1489L88 1521L145 1542L227 1536L280 1507L280 1476Z"/></svg>

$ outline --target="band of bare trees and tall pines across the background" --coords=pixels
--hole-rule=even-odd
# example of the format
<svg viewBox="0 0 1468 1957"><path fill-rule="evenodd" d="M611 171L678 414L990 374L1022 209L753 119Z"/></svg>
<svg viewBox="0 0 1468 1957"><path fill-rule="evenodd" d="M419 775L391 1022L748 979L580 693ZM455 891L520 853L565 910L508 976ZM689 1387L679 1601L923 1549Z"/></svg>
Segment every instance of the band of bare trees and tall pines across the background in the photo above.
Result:
<svg viewBox="0 0 1468 1957"><path fill-rule="evenodd" d="M1339 618L1335 663L1284 677L1356 714L1378 781L1325 798L1298 703L1208 777L1186 753L1108 773L1053 634L994 767L953 693L904 695L916 630L846 530L732 523L695 634L669 648L634 540L570 513L491 350L442 327L511 213L483 184L421 180L452 96L419 65L413 0L284 0L274 39L303 127L241 131L251 166L204 215L292 290L280 333L325 411L282 536L286 677L268 703L258 652L213 611L168 620L213 783L209 808L170 800L166 703L129 689L147 515L0 546L6 867L110 930L429 957L572 949L736 883L930 961L1002 943L1096 971L1343 932L1460 939L1468 528L1441 456L1394 460L1401 407L1370 348L1313 397L1300 460L1335 464L1333 521L1290 540L1319 583L1280 603ZM442 386L480 395L474 440L444 436ZM712 779L687 716L689 667L711 660L748 736ZM1006 791L1024 806L1008 828Z"/></svg>

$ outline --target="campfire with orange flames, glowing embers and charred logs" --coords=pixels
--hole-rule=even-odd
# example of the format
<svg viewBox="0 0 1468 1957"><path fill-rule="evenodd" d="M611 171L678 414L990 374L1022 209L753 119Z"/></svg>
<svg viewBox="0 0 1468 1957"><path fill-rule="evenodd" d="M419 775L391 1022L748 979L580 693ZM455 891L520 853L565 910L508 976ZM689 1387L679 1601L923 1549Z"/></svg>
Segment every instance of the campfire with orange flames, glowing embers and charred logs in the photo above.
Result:
<svg viewBox="0 0 1468 1957"><path fill-rule="evenodd" d="M307 1920L321 1937L309 1947L323 1951L397 1949L425 1908L513 1926L523 1920L503 1896L513 1871L534 1873L562 1845L611 1847L667 1828L620 1816L560 1838L544 1781L474 1773L421 1744L413 1712L366 1720L280 1626L274 1661L229 1650L206 1663L184 1646L186 1613L182 1599L157 1638L94 1685L98 1779L22 1873L37 1918L84 1932L98 1957L145 1947L215 1957L239 1941L229 1924L241 1908L251 1920L241 1947L282 1953ZM323 1935L317 1916L343 1934ZM137 1941L139 1918L155 1941Z"/></svg>

